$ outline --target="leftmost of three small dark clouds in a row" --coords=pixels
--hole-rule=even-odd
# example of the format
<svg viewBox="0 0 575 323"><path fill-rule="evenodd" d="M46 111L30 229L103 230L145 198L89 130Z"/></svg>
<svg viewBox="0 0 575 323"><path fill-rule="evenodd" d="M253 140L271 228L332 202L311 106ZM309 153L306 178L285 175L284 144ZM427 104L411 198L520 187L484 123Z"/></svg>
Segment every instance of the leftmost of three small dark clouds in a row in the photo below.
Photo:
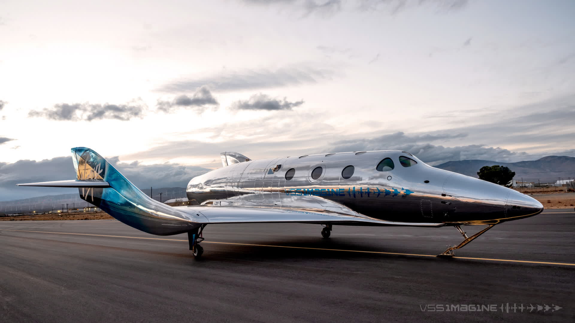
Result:
<svg viewBox="0 0 575 323"><path fill-rule="evenodd" d="M132 118L143 117L143 112L147 106L143 103L133 102L124 105L114 105L106 103L60 103L53 106L52 109L44 108L41 111L29 111L29 117L44 117L49 120L102 120L113 119L128 121Z"/></svg>

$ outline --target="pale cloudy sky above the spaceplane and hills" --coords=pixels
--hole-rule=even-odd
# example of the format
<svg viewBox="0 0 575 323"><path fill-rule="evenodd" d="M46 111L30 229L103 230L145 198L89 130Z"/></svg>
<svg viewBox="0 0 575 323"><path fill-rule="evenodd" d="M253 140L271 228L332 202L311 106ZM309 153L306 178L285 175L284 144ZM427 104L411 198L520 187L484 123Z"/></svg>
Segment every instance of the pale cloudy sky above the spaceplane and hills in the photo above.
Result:
<svg viewBox="0 0 575 323"><path fill-rule="evenodd" d="M73 178L78 146L143 187L223 151L575 156L573 17L570 0L0 0L0 201Z"/></svg>

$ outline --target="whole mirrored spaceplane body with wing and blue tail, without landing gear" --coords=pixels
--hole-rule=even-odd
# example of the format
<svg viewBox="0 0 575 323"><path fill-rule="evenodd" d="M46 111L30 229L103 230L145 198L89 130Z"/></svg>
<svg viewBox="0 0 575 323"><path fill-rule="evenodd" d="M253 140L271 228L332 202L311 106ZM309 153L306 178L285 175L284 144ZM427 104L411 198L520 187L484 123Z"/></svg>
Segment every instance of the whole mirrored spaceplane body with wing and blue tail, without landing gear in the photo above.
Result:
<svg viewBox="0 0 575 323"><path fill-rule="evenodd" d="M159 235L239 222L497 224L543 210L527 195L428 166L408 152L262 160L231 152L221 156L227 166L190 180L190 206L171 207L151 199L85 147L72 148L76 180L27 185L79 187L85 201L125 224Z"/></svg>

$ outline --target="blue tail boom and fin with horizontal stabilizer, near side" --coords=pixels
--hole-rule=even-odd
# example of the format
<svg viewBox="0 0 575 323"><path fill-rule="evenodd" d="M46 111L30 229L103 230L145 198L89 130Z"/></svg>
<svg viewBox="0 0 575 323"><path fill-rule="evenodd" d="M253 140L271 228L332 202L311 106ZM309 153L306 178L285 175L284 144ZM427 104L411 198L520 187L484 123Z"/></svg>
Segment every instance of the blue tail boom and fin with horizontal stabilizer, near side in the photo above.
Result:
<svg viewBox="0 0 575 323"><path fill-rule="evenodd" d="M188 232L199 225L185 212L145 195L92 149L72 148L72 160L76 180L18 185L78 187L86 202L133 228L160 236Z"/></svg>

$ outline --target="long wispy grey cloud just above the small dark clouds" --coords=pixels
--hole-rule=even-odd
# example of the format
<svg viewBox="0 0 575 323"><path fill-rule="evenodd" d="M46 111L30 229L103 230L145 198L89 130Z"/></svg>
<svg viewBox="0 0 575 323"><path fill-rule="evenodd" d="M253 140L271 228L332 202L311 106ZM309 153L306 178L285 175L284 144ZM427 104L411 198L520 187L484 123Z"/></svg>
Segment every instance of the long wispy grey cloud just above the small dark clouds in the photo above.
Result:
<svg viewBox="0 0 575 323"><path fill-rule="evenodd" d="M273 87L294 86L305 83L317 83L320 80L329 80L336 75L332 68L320 68L310 64L300 64L277 68L275 70L241 70L222 71L216 75L201 78L177 80L160 87L158 91L164 93L181 93L209 86L214 91L239 91L254 89L270 89Z"/></svg>

